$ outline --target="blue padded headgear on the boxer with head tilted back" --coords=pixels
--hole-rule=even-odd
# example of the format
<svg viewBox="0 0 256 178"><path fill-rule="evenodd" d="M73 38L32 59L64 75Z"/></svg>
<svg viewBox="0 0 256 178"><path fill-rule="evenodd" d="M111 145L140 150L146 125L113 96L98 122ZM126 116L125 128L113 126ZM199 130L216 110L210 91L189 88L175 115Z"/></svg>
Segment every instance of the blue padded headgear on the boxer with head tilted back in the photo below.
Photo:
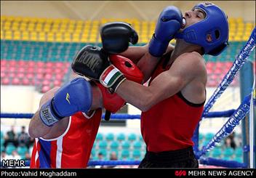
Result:
<svg viewBox="0 0 256 178"><path fill-rule="evenodd" d="M175 38L202 46L205 54L217 56L228 46L227 16L222 9L210 2L197 4L193 9L201 9L206 17L177 33ZM209 34L212 41L207 41Z"/></svg>

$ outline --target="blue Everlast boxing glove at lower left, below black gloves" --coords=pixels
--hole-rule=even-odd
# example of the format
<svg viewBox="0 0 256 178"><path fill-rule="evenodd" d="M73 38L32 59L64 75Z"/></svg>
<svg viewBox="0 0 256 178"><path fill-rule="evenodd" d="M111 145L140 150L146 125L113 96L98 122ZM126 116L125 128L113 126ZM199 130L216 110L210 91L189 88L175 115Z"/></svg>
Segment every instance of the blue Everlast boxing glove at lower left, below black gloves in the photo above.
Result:
<svg viewBox="0 0 256 178"><path fill-rule="evenodd" d="M75 78L62 86L52 100L42 105L39 116L47 126L60 119L82 111L86 113L92 105L92 86L84 78Z"/></svg>

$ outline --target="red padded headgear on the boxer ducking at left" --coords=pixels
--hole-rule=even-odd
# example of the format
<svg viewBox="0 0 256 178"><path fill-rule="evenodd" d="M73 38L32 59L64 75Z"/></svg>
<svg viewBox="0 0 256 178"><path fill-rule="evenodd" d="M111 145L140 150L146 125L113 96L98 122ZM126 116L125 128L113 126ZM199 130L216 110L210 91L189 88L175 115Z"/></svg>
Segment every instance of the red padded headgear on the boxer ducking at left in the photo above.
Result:
<svg viewBox="0 0 256 178"><path fill-rule="evenodd" d="M109 60L116 68L118 68L121 71L121 73L124 74L124 76L128 80L135 81L139 84L142 83L143 73L140 71L139 68L137 68L137 66L131 60L129 60L126 57L114 54L109 56ZM111 113L116 113L118 110L124 107L125 101L118 94L111 94L111 92L109 92L108 89L100 83L97 83L97 86L99 86L103 94L103 107L105 108L105 110L108 110ZM107 112L105 113L105 116L106 115Z"/></svg>

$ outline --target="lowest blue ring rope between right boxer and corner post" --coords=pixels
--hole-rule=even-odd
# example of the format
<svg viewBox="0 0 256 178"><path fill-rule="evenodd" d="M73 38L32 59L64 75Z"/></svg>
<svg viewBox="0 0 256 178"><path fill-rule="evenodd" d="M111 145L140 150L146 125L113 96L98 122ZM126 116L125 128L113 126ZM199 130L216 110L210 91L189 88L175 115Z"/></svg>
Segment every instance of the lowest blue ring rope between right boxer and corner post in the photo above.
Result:
<svg viewBox="0 0 256 178"><path fill-rule="evenodd" d="M200 158L199 163L211 166L222 166L226 168L247 168L246 163L239 163L237 161L225 161L215 158Z"/></svg>

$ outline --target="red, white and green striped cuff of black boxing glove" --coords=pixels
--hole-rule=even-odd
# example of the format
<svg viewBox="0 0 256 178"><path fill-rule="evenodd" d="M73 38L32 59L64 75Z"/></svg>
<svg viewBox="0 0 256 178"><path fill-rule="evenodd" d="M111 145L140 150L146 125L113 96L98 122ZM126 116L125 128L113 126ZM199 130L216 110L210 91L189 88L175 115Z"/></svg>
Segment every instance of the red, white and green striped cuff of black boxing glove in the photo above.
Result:
<svg viewBox="0 0 256 178"><path fill-rule="evenodd" d="M117 78L122 76L123 74L115 68L113 65L110 65L108 68L106 68L103 72L103 74L100 76L100 83L103 84L105 87L111 87Z"/></svg>

